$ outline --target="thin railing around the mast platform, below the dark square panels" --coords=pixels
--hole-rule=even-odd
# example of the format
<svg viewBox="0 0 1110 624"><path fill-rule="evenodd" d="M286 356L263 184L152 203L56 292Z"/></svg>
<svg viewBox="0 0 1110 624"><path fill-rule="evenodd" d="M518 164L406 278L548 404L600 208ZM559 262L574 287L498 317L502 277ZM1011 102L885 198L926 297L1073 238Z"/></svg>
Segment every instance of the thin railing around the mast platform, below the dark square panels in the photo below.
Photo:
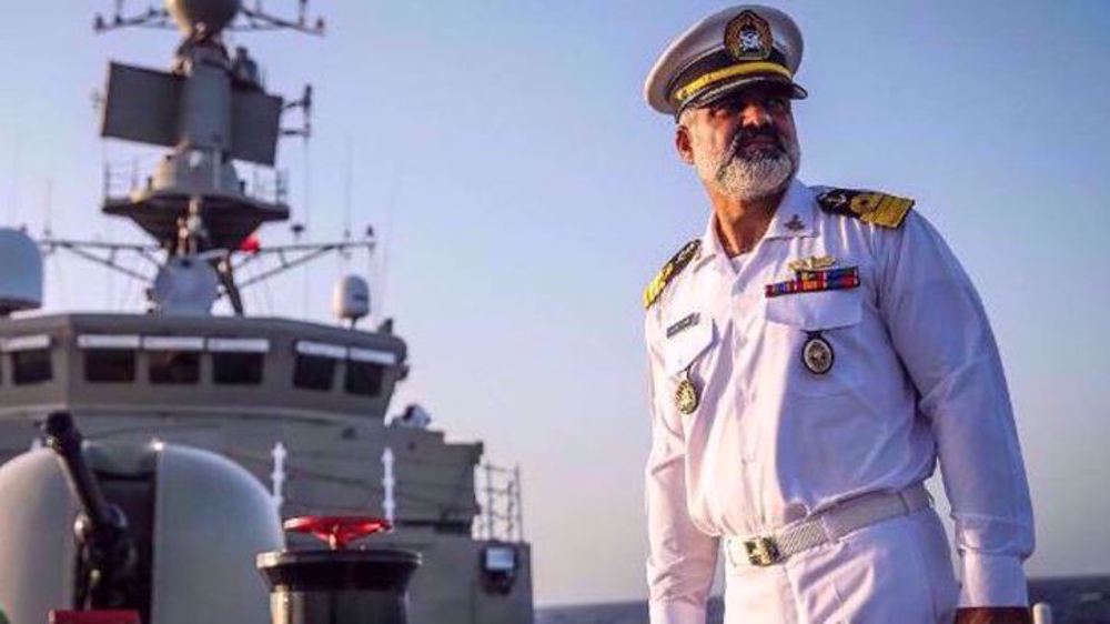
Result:
<svg viewBox="0 0 1110 624"><path fill-rule="evenodd" d="M105 161L103 171L103 199L132 197L149 190L162 158L133 158ZM243 195L265 202L286 203L289 200L289 172L250 163L236 163L239 190Z"/></svg>

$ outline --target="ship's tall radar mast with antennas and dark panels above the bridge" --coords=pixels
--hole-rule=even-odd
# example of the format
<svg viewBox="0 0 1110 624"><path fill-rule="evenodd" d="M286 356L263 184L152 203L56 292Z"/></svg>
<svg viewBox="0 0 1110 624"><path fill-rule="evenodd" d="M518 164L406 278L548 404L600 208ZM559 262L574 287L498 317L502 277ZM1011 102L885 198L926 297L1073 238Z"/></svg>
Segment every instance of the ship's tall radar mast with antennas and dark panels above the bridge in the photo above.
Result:
<svg viewBox="0 0 1110 624"><path fill-rule="evenodd" d="M98 14L93 29L176 29L182 37L169 71L113 62L101 100L101 135L144 145L169 148L153 172L132 172L129 188L119 192L105 168L105 214L123 217L154 239L154 244L114 245L56 240L46 236L49 252L65 249L105 264L151 288L152 311L210 314L226 296L236 315L244 313L240 291L260 278L235 283L235 271L260 258L276 258L273 276L332 251L373 249L373 241L300 243L262 248L254 236L265 223L289 220L287 182L274 169L283 137L311 135L312 87L286 101L269 93L258 63L245 47L229 51L229 31L293 30L322 36L324 21L310 20L307 0L297 0L297 14L282 18L268 12L261 0L253 7L241 0L167 0L164 8L127 12L115 0L109 17ZM300 110L300 125L282 125ZM236 162L269 172L269 182L240 177ZM369 230L367 230L369 231ZM125 269L117 252L134 252L157 266L154 275ZM160 260L159 256L164 256Z"/></svg>

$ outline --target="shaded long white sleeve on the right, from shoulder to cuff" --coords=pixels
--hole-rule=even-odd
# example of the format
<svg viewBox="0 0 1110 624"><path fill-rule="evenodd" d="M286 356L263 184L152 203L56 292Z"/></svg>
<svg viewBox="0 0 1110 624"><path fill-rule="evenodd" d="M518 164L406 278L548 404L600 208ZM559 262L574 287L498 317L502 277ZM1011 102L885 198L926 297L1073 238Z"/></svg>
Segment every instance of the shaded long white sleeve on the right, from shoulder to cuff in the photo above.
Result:
<svg viewBox="0 0 1110 624"><path fill-rule="evenodd" d="M1032 509L986 311L924 218L911 214L886 242L880 306L937 440L962 557L961 606L1025 605Z"/></svg>

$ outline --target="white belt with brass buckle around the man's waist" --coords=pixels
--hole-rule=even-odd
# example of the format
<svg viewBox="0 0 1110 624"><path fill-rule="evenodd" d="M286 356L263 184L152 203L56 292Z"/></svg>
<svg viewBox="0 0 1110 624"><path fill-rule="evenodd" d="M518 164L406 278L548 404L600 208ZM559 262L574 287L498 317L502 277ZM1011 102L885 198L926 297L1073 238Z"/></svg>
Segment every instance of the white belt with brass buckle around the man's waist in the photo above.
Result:
<svg viewBox="0 0 1110 624"><path fill-rule="evenodd" d="M774 535L726 537L725 555L733 565L767 566L801 551L835 542L869 524L924 510L932 497L920 483L896 494L864 494L838 503Z"/></svg>

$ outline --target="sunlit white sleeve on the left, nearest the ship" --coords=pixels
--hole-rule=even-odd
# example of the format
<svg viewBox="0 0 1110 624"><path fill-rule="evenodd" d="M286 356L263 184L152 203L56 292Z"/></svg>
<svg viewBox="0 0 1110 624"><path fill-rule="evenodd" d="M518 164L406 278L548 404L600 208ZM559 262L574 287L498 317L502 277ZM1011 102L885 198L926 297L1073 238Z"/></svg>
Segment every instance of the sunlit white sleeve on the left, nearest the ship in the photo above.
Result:
<svg viewBox="0 0 1110 624"><path fill-rule="evenodd" d="M657 396L665 388L662 360L649 351L652 450L645 469L650 624L704 624L717 565L718 541L699 531L686 504L686 447L682 422Z"/></svg>

